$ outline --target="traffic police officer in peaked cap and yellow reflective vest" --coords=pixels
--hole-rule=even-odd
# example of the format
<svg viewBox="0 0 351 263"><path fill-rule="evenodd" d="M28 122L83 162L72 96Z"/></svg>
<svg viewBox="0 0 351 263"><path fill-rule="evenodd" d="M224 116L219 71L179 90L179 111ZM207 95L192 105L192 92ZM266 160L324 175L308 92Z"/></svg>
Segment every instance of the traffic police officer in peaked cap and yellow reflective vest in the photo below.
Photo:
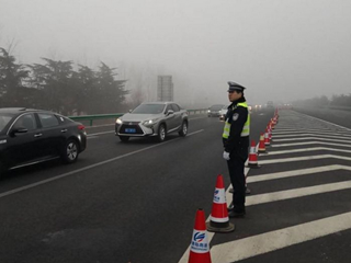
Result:
<svg viewBox="0 0 351 263"><path fill-rule="evenodd" d="M225 117L223 132L223 158L227 161L234 188L233 208L229 217L244 217L245 210L245 162L249 155L250 114L244 96L245 87L228 82L228 99L231 104Z"/></svg>

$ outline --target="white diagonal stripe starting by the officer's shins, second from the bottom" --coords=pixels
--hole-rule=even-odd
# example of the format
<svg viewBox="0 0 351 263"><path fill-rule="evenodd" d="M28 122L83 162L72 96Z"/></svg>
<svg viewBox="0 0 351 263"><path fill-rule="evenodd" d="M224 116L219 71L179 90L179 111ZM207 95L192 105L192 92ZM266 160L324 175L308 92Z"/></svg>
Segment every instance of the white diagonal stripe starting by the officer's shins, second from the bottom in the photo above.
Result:
<svg viewBox="0 0 351 263"><path fill-rule="evenodd" d="M292 198L297 198L302 196L329 193L329 192L347 190L347 188L351 188L351 181L315 185L315 186L301 187L301 188L294 188L294 190L284 190L284 191L268 193L268 194L258 194L258 195L247 196L245 204L247 206L259 205L264 203L292 199Z"/></svg>

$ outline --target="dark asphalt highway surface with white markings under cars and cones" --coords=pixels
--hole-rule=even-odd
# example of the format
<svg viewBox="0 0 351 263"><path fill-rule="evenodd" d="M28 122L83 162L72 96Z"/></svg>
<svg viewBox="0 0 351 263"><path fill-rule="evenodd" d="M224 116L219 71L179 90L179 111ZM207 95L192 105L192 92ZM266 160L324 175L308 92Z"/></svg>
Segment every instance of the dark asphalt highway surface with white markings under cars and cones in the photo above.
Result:
<svg viewBox="0 0 351 263"><path fill-rule="evenodd" d="M252 114L251 139L258 142L272 116L273 112ZM112 126L88 128L88 149L77 163L53 161L11 172L0 182L0 262L188 262L196 209L204 208L210 216L217 174L224 174L229 186L222 158L223 125L217 118L193 115L189 136L170 135L162 144L152 139L122 144ZM305 128L340 134L339 139L325 137L335 144L328 146L320 145L325 142L320 134L296 136ZM213 262L349 262L351 226L348 220L343 226L340 216L351 210L351 190L343 184L351 176L348 134L301 113L281 111L269 153L259 157L261 168L248 171L252 191L248 215L233 221L235 232L214 235ZM308 141L312 145L297 145ZM306 150L312 147L319 148ZM327 157L286 160L321 155ZM306 172L320 167L327 171ZM299 175L292 175L295 170ZM270 174L275 178L261 176ZM313 186L324 187L305 190ZM330 217L336 222L331 229L326 227L329 221L320 221ZM329 232L316 230L320 228ZM305 237L308 231L310 239ZM260 235L265 242L257 241ZM282 235L285 239L276 239ZM245 241L254 247L240 250L248 247Z"/></svg>

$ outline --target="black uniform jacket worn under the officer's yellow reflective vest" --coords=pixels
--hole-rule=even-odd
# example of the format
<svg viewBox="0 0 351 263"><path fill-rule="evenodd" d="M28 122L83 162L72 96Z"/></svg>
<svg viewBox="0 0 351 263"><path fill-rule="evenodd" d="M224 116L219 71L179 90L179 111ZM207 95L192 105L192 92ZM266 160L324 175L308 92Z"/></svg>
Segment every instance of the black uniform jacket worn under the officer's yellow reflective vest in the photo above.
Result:
<svg viewBox="0 0 351 263"><path fill-rule="evenodd" d="M241 137L240 134L249 112L247 107L237 106L239 102L246 102L245 98L240 98L228 106L225 121L230 123L230 133L228 139L223 138L223 146L225 151L230 152L230 156L238 156L246 160L248 157L249 136Z"/></svg>

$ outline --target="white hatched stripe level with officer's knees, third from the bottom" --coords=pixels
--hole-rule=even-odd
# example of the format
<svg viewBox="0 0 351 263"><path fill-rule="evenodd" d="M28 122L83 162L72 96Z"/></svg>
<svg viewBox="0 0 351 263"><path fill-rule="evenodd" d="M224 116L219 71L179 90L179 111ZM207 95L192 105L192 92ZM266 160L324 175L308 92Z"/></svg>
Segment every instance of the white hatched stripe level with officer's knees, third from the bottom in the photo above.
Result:
<svg viewBox="0 0 351 263"><path fill-rule="evenodd" d="M261 182L261 181L284 179L284 178L291 178L291 176L299 176L299 175L305 175L305 174L321 173L321 172L328 172L328 171L335 171L335 170L351 171L351 167L332 164L332 165L307 168L307 169L299 169L299 170L293 170L293 171L286 171L286 172L260 174L260 175L254 175L254 176L248 176L247 182L248 183L257 183L257 182Z"/></svg>

